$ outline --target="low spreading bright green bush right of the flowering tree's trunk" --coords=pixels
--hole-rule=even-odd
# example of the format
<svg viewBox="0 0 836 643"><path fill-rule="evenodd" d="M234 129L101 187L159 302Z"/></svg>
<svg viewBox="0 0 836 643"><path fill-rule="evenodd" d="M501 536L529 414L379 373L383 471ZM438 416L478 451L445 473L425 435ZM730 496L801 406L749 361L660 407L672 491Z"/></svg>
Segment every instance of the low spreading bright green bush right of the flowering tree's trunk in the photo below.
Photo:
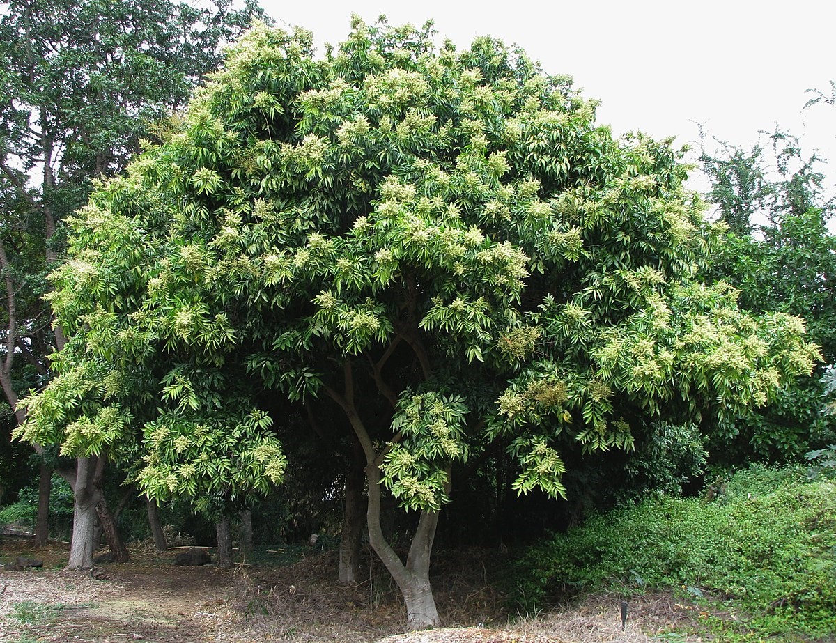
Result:
<svg viewBox="0 0 836 643"><path fill-rule="evenodd" d="M686 589L731 601L763 635L832 635L836 484L750 467L712 502L651 498L554 535L516 580L526 611L580 590Z"/></svg>

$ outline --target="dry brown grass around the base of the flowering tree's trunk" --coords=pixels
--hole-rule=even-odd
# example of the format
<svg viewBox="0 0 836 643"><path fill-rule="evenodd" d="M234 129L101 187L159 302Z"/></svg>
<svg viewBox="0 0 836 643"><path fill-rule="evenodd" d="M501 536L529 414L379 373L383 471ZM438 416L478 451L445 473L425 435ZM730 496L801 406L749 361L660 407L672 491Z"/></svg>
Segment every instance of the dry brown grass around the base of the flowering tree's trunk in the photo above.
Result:
<svg viewBox="0 0 836 643"><path fill-rule="evenodd" d="M367 559L367 564L368 564ZM440 553L433 586L444 629L403 634L405 610L395 585L372 561L370 577L352 587L334 581L336 554L319 554L286 568L247 568L227 595L242 618L238 640L300 640L309 643L643 643L661 631L684 629L699 614L669 595L630 599L622 630L617 595L519 618L506 610L506 596L492 584L495 552ZM235 594L237 592L237 594ZM245 634L246 630L246 634ZM655 640L660 640L659 638ZM678 637L677 641L697 641Z"/></svg>

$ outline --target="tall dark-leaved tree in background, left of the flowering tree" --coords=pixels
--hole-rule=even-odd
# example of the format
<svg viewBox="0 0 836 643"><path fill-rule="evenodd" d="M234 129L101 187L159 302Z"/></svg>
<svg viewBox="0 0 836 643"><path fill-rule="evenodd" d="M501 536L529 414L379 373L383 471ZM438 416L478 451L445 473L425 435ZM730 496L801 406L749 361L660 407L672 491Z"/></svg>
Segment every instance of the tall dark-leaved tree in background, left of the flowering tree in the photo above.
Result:
<svg viewBox="0 0 836 643"><path fill-rule="evenodd" d="M44 274L62 248L62 222L86 202L94 179L121 171L141 135L184 105L223 44L263 13L169 0L24 0L0 20L0 381L18 422L25 389L19 360L48 379L64 345L43 303ZM29 378L31 380L31 378ZM59 471L74 487L78 516L97 507L104 460L79 457ZM48 476L47 470L42 476ZM48 492L48 488L47 488ZM79 528L79 533L86 529ZM78 542L77 542L78 540ZM76 545L83 549L76 549ZM89 538L74 538L71 567L89 565Z"/></svg>

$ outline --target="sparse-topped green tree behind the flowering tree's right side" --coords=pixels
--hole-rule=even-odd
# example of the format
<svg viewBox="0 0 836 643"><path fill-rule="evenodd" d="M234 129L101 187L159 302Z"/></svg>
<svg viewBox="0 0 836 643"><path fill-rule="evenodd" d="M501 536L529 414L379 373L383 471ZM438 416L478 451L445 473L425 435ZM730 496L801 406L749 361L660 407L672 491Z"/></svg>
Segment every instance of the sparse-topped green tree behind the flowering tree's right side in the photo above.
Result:
<svg viewBox="0 0 836 643"><path fill-rule="evenodd" d="M702 169L708 197L728 225L707 278L741 291L740 304L757 312L803 317L824 364L836 362L836 237L828 230L828 200L821 160L806 156L798 139L781 130L751 151L721 143ZM720 458L782 461L799 457L836 436L836 418L822 410L822 370L782 387L769 406L726 426ZM728 448L727 444L737 444ZM717 443L716 446L719 446Z"/></svg>

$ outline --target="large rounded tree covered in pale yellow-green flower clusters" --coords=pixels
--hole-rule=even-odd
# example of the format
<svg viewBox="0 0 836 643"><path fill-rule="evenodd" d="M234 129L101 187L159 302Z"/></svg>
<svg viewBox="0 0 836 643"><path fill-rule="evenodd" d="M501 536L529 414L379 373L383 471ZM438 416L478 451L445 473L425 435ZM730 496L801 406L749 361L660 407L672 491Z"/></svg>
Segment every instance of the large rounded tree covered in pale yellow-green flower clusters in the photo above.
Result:
<svg viewBox="0 0 836 643"><path fill-rule="evenodd" d="M670 141L613 140L519 49L432 35L355 18L315 59L303 30L248 33L72 222L65 370L23 427L91 451L141 425L140 487L205 496L281 468L259 397L318 398L362 448L370 543L413 627L440 622L432 543L468 458L505 448L518 492L556 498L561 451L735 416L817 357L799 319L696 280L714 232ZM405 560L385 492L413 517Z"/></svg>

